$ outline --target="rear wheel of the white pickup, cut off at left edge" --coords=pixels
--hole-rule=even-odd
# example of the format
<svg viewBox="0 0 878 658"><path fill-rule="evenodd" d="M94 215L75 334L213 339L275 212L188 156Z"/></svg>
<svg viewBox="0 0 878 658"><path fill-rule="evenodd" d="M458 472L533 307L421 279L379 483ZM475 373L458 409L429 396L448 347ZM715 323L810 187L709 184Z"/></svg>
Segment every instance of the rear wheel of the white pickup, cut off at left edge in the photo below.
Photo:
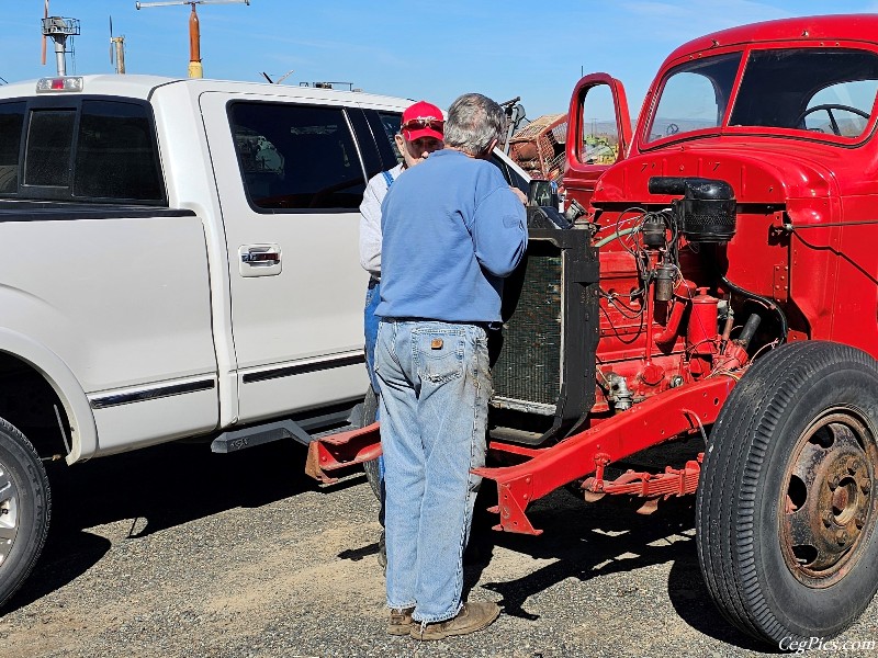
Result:
<svg viewBox="0 0 878 658"><path fill-rule="evenodd" d="M24 434L0 418L0 606L34 568L50 511L40 456Z"/></svg>

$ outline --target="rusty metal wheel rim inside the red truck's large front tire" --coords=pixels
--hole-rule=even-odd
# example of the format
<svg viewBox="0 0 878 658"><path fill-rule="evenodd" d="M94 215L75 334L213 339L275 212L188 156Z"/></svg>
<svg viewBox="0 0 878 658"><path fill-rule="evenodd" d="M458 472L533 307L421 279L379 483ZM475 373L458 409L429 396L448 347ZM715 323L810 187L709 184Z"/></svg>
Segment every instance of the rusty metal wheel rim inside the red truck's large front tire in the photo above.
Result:
<svg viewBox="0 0 878 658"><path fill-rule="evenodd" d="M784 560L800 582L830 587L859 559L876 517L876 436L854 409L829 409L799 436L779 520Z"/></svg>

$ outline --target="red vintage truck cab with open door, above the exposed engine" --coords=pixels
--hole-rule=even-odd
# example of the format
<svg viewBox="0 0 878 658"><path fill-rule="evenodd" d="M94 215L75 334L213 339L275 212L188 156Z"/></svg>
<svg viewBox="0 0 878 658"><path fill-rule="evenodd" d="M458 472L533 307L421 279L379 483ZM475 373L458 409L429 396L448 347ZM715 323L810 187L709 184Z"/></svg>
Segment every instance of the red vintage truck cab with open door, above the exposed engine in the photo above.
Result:
<svg viewBox="0 0 878 658"><path fill-rule="evenodd" d="M695 39L662 65L633 131L621 82L584 78L571 102L569 197L590 203L605 226L618 204L669 204L650 192L653 177L729 182L739 220L728 277L781 304L790 340L878 353L878 253L868 248L878 194L875 24L871 15L791 19ZM614 149L609 161L595 159L599 140Z"/></svg>

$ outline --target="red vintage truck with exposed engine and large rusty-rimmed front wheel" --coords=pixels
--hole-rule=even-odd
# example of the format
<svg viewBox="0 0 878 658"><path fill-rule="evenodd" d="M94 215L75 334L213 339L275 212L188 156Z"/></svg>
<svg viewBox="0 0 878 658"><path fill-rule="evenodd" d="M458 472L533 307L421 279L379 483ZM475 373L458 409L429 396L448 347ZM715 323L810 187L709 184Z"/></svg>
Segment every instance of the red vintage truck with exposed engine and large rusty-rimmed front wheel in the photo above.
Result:
<svg viewBox="0 0 878 658"><path fill-rule="evenodd" d="M868 605L876 35L878 15L838 15L697 38L664 61L633 129L618 80L579 81L563 183L586 212L567 225L529 208L505 292L497 466L480 470L498 530L539 534L529 503L571 484L644 511L695 494L707 587L742 631L789 649ZM373 457L376 438L313 443L311 473Z"/></svg>

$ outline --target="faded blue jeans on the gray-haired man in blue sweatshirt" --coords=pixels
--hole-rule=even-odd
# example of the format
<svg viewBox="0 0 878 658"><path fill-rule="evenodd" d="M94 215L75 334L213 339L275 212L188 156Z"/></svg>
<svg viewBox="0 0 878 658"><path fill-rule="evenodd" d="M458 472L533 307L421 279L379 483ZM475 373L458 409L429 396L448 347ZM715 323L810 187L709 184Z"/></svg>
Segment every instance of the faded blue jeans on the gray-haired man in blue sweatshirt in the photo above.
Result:
<svg viewBox="0 0 878 658"><path fill-rule="evenodd" d="M458 614L463 549L485 464L491 397L485 330L430 320L379 325L387 605L417 622Z"/></svg>

